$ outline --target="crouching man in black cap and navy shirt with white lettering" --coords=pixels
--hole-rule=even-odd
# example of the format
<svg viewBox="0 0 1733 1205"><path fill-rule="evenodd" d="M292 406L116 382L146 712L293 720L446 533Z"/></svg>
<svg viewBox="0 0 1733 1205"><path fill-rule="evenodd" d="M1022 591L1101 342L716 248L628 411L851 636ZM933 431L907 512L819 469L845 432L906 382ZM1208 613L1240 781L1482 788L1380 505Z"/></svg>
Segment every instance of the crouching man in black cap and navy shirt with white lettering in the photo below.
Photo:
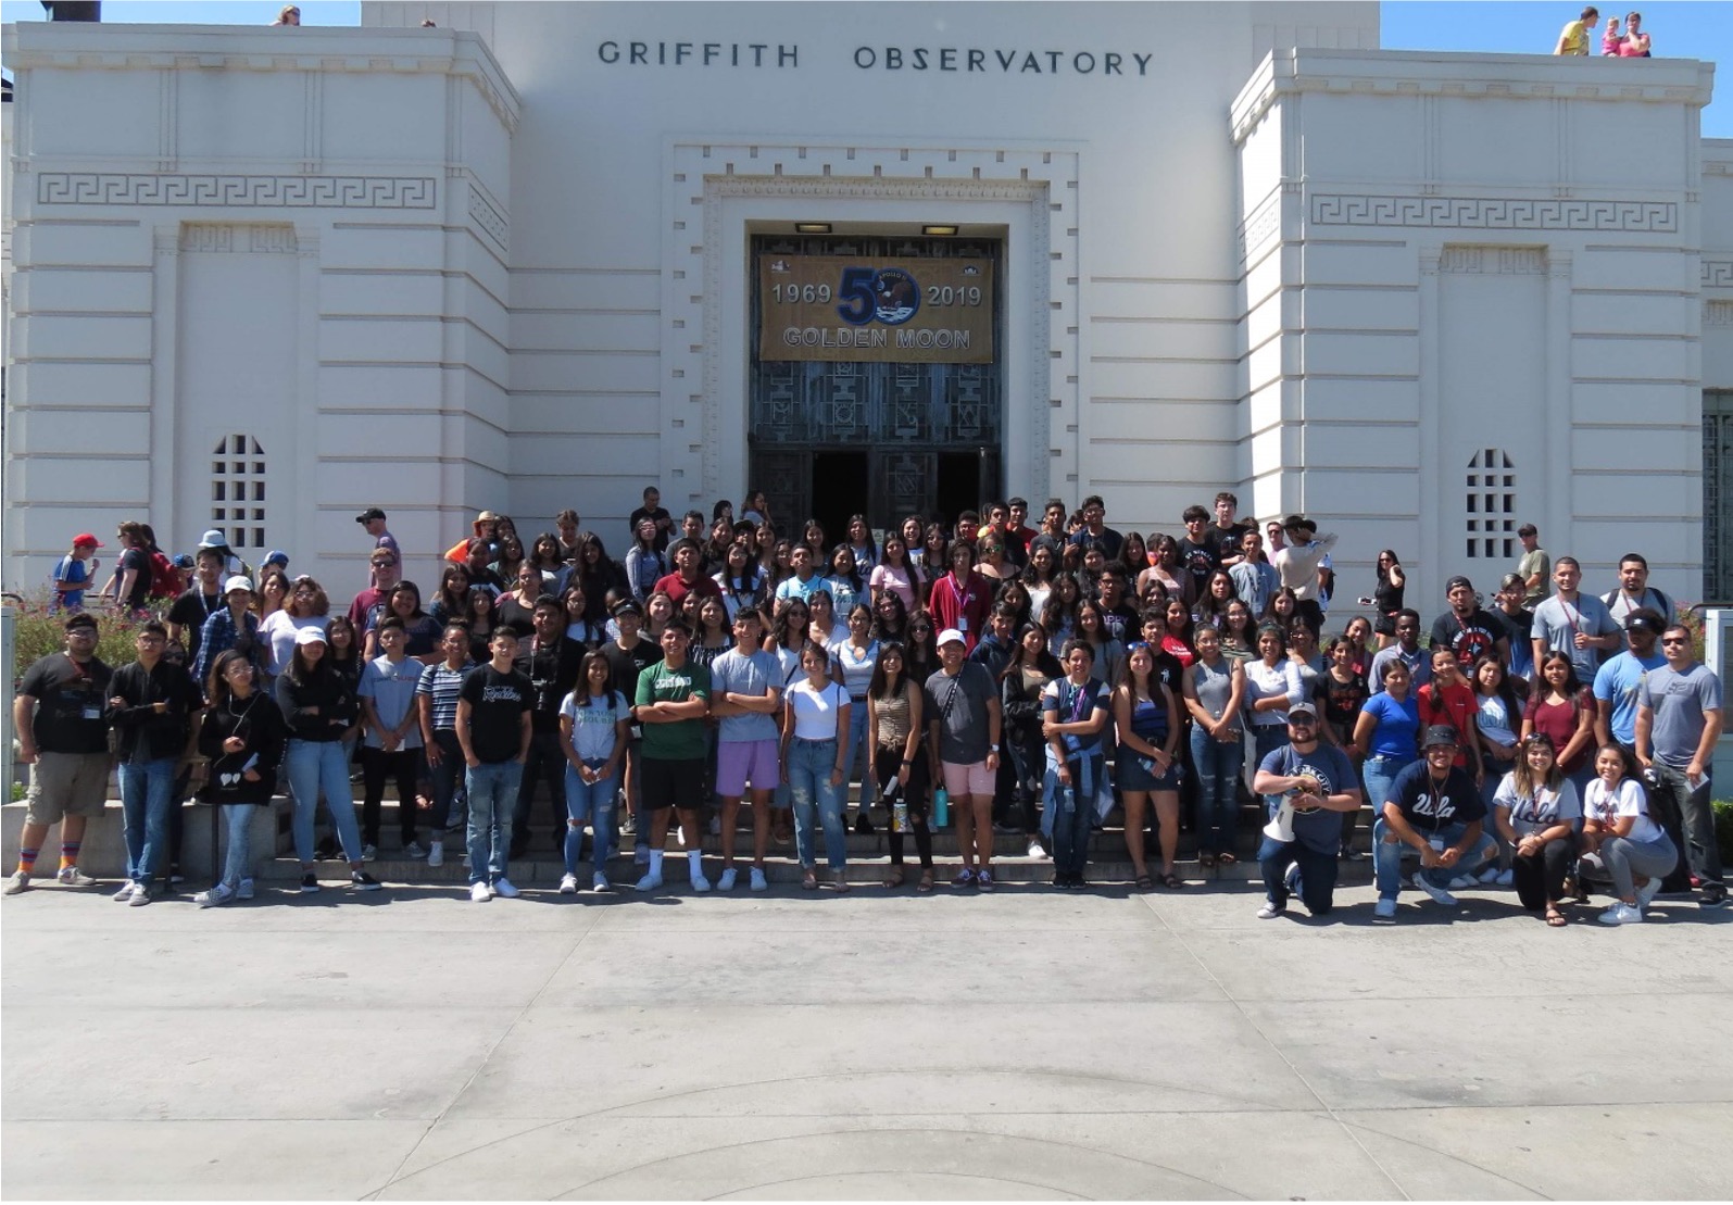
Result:
<svg viewBox="0 0 1733 1205"><path fill-rule="evenodd" d="M1397 914L1404 846L1419 853L1414 881L1447 909L1456 907L1447 889L1451 881L1473 876L1497 855L1497 841L1483 830L1487 804L1468 772L1454 765L1456 742L1456 728L1449 725L1426 728L1421 759L1397 775L1381 803L1373 824L1381 917Z"/></svg>

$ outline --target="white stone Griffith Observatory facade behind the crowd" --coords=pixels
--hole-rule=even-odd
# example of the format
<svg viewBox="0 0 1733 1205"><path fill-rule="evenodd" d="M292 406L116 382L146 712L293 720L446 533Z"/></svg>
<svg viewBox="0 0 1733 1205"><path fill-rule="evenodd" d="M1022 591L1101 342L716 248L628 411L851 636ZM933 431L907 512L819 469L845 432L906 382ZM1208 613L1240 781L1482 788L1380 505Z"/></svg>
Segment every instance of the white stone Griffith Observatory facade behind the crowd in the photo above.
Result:
<svg viewBox="0 0 1733 1205"><path fill-rule="evenodd" d="M816 506L860 468L896 513L960 461L851 435L828 369L792 411L830 427L775 444L756 265L955 225L996 281L986 435L950 435L983 489L1146 532L1236 489L1340 532L1345 598L1397 548L1428 614L1523 520L1591 586L1638 548L1704 596L1733 496L1710 64L1381 52L1376 5L1334 2L362 12L5 28L9 588L123 518L347 584L369 505L423 583L482 506L575 506L620 551L646 482Z"/></svg>

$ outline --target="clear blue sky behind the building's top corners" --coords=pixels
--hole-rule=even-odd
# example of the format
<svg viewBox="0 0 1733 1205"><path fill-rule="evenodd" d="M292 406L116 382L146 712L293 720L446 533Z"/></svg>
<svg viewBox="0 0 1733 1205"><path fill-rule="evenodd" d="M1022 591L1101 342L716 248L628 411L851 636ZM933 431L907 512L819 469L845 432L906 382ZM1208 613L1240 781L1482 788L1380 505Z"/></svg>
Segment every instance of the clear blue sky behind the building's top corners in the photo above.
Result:
<svg viewBox="0 0 1733 1205"><path fill-rule="evenodd" d="M359 0L298 0L305 24L360 24ZM104 0L104 21L168 21L217 24L270 24L282 0ZM1558 31L1577 14L1580 0L1501 3L1496 0L1385 0L1383 43L1388 50L1482 50L1492 54L1548 54ZM1603 5L1608 12L1613 5ZM1624 10L1619 10L1620 16ZM1643 28L1665 57L1712 59L1733 47L1733 3L1721 0L1662 0L1641 5ZM9 21L35 21L35 0L10 0ZM1723 50L1716 50L1721 47ZM1717 97L1733 78L1716 80ZM1704 137L1733 139L1733 101L1704 109Z"/></svg>

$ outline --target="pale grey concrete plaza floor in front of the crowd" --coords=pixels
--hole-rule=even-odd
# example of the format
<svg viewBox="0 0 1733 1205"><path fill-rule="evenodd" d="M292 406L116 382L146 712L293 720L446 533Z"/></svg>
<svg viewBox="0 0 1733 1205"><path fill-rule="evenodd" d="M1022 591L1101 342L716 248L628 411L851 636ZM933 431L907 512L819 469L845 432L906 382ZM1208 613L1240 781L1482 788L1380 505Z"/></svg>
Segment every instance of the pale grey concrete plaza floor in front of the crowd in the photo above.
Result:
<svg viewBox="0 0 1733 1205"><path fill-rule="evenodd" d="M1733 912L1260 895L50 884L0 905L0 1191L1733 1193Z"/></svg>

